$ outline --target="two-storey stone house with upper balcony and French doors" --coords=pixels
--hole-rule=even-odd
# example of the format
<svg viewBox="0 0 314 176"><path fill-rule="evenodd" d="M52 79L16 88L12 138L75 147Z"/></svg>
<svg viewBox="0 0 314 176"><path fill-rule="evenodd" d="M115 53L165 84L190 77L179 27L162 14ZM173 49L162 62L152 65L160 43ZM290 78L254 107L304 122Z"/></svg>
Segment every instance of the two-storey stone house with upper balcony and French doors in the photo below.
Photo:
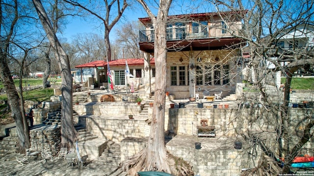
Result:
<svg viewBox="0 0 314 176"><path fill-rule="evenodd" d="M245 13L232 11L168 16L166 91L176 99L187 99L195 97L195 94L201 98L204 93L213 95L221 91L223 96L227 96L240 90L236 89L241 80L235 59L241 57L236 48L243 41L234 36L241 32L240 17ZM150 18L139 18L139 21L146 27L146 30L139 31L140 50L154 55L152 21ZM149 67L147 60L145 68Z"/></svg>

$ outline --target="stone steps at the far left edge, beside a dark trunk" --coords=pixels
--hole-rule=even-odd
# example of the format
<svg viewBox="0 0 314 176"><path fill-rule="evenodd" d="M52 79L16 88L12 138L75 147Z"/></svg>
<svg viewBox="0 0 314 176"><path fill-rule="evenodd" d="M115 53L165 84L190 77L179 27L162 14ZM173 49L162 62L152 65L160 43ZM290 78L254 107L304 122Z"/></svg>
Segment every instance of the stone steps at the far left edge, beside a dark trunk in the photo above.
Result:
<svg viewBox="0 0 314 176"><path fill-rule="evenodd" d="M16 144L18 142L18 137L8 136L4 137L2 141L0 141L0 156L15 153L16 152Z"/></svg>

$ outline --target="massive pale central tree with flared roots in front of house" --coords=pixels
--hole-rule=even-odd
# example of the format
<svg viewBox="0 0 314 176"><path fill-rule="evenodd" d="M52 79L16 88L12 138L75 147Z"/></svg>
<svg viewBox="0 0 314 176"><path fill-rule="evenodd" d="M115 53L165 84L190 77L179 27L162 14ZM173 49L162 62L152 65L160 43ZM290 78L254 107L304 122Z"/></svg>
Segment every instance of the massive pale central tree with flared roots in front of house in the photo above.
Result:
<svg viewBox="0 0 314 176"><path fill-rule="evenodd" d="M172 0L160 0L157 16L152 13L144 0L138 0L146 10L155 29L154 55L156 65L156 87L152 115L152 125L146 148L124 161L122 169L132 176L138 171L163 171L176 176L193 175L192 168L182 159L166 151L164 143L164 115L166 98L166 23ZM176 163L175 161L180 161Z"/></svg>

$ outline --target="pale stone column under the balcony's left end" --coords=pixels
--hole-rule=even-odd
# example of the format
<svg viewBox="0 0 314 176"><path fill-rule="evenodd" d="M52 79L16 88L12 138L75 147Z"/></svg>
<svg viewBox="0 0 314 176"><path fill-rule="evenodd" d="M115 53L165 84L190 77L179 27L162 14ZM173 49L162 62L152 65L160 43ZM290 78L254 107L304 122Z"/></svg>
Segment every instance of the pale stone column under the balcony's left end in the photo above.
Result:
<svg viewBox="0 0 314 176"><path fill-rule="evenodd" d="M143 78L143 84L144 84L144 91L145 91L145 97L150 98L151 97L151 61L150 61L150 53L145 52L144 53L144 78Z"/></svg>

